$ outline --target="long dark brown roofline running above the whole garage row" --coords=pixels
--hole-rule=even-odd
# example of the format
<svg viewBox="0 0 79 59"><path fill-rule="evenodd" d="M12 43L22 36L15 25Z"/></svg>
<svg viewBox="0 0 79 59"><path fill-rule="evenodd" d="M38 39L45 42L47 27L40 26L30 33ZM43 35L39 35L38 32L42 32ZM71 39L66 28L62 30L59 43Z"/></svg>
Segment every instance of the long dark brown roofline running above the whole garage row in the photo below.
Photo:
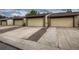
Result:
<svg viewBox="0 0 79 59"><path fill-rule="evenodd" d="M51 17L51 18L56 18L56 17L72 17L72 16L77 16L79 15L79 12L70 12L70 13L50 13L50 14L39 14L39 15L33 15L33 16L21 16L21 17L14 17L14 18L7 18L7 19L23 19L23 18L43 18L45 16ZM4 18L4 20L7 20Z"/></svg>

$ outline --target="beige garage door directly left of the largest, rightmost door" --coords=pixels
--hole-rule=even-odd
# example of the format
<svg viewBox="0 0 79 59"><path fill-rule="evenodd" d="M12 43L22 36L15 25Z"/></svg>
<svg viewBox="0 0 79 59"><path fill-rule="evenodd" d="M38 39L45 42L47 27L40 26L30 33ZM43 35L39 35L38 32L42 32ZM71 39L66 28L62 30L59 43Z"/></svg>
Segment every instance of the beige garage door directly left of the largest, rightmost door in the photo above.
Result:
<svg viewBox="0 0 79 59"><path fill-rule="evenodd" d="M28 26L43 26L43 18L28 19Z"/></svg>

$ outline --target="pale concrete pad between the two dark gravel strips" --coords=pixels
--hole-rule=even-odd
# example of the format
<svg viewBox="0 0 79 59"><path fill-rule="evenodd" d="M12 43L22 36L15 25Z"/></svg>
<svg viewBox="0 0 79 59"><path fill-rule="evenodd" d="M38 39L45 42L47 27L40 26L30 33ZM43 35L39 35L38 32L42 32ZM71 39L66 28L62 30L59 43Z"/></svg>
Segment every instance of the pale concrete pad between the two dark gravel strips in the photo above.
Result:
<svg viewBox="0 0 79 59"><path fill-rule="evenodd" d="M40 30L42 27L22 27L13 31L9 31L6 33L1 34L1 36L7 36L7 37L12 37L12 38L20 38L20 39L27 39L30 37L32 34Z"/></svg>

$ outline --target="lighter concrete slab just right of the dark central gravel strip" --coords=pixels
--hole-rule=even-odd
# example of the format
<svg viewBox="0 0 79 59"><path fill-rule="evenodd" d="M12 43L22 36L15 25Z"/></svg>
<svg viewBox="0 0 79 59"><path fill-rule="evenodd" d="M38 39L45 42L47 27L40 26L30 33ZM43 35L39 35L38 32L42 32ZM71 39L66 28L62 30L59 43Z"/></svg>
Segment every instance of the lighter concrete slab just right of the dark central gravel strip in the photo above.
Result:
<svg viewBox="0 0 79 59"><path fill-rule="evenodd" d="M48 28L46 33L39 39L38 42L50 47L58 47L56 28Z"/></svg>

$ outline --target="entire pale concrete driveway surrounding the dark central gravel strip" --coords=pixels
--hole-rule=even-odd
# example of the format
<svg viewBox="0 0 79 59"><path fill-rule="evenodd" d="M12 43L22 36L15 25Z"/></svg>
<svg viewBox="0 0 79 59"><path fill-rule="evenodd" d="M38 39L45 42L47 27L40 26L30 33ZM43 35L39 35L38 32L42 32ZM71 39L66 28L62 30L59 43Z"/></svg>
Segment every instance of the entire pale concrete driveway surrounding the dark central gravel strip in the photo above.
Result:
<svg viewBox="0 0 79 59"><path fill-rule="evenodd" d="M23 27L0 34L0 41L24 50L73 50L79 49L77 28L49 27L37 42L26 40L42 27ZM37 37L36 37L37 38Z"/></svg>

